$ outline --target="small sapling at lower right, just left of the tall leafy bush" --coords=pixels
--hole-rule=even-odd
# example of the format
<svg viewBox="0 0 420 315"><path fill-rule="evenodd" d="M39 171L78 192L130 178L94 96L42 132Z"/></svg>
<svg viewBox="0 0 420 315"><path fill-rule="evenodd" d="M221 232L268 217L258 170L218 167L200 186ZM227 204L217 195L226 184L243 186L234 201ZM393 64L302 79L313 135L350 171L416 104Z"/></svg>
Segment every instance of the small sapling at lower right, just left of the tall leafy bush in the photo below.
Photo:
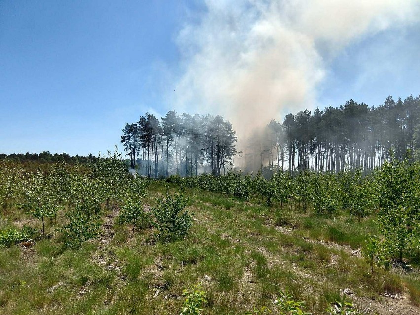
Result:
<svg viewBox="0 0 420 315"><path fill-rule="evenodd" d="M376 235L366 240L365 246L362 248L362 256L371 268L372 277L375 267L384 268L385 270L390 268L391 262L388 258L389 253L386 245Z"/></svg>

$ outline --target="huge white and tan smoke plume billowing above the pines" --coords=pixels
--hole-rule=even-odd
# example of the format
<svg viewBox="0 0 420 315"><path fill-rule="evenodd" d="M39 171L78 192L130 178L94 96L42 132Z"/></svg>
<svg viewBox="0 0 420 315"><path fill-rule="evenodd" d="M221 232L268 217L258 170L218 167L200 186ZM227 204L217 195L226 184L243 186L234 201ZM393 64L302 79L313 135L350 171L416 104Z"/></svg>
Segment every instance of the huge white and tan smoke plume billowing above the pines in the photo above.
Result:
<svg viewBox="0 0 420 315"><path fill-rule="evenodd" d="M350 43L419 19L419 0L205 1L177 43L176 105L222 114L244 138L286 111L313 108L328 63ZM194 22L195 21L195 22Z"/></svg>

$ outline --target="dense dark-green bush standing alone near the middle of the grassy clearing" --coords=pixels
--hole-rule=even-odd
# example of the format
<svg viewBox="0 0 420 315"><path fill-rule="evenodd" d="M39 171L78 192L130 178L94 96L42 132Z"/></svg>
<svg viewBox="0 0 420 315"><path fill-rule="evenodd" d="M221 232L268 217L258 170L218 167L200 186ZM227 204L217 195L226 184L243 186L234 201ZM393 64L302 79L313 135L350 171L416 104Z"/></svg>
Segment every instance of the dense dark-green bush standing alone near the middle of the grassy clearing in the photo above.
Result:
<svg viewBox="0 0 420 315"><path fill-rule="evenodd" d="M192 225L192 217L188 210L182 212L187 205L187 199L182 194L171 196L169 190L166 197L158 199L157 207L152 208L153 226L159 231L160 237L173 240L185 237Z"/></svg>

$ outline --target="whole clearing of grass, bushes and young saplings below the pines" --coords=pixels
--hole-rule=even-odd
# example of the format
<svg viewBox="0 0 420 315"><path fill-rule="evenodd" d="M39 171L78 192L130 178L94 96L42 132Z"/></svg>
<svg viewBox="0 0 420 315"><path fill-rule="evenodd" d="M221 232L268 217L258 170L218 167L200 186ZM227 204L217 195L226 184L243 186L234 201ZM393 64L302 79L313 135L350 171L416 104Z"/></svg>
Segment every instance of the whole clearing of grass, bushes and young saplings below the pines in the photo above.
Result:
<svg viewBox="0 0 420 315"><path fill-rule="evenodd" d="M118 153L5 160L0 314L416 314L419 187L393 159L369 176L166 181Z"/></svg>

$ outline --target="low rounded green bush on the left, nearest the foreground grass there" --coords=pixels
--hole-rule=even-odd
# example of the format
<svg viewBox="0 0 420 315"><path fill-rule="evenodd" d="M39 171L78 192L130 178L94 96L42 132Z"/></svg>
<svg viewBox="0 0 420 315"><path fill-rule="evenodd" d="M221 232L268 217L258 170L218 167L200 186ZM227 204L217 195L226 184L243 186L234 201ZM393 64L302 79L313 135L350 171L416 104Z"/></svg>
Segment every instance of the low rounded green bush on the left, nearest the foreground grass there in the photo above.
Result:
<svg viewBox="0 0 420 315"><path fill-rule="evenodd" d="M66 217L70 222L61 229L66 238L66 245L80 247L84 241L98 236L101 224L97 215L88 216L86 213L75 211L66 214Z"/></svg>

